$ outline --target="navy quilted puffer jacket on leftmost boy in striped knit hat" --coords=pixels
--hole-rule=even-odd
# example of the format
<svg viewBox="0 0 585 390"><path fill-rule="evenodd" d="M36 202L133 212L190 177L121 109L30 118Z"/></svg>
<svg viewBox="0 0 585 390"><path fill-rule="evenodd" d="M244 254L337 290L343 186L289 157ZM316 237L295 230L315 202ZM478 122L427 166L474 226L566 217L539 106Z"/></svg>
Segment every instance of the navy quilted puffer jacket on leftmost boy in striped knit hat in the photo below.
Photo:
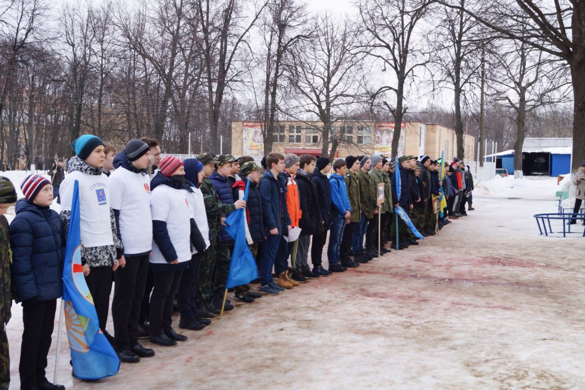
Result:
<svg viewBox="0 0 585 390"><path fill-rule="evenodd" d="M63 222L48 207L20 199L10 224L12 286L15 301L50 301L63 291Z"/></svg>

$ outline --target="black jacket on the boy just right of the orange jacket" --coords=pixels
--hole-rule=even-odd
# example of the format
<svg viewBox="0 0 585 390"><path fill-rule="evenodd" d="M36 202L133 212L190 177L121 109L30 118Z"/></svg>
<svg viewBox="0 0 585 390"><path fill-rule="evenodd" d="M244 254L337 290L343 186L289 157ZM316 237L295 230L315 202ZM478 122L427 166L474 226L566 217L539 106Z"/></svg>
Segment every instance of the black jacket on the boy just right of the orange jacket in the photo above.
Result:
<svg viewBox="0 0 585 390"><path fill-rule="evenodd" d="M303 171L298 171L295 179L301 198L301 220L298 222L298 227L302 229L301 236L321 233L323 220L321 219L321 210L319 210L319 196L315 183L311 176Z"/></svg>

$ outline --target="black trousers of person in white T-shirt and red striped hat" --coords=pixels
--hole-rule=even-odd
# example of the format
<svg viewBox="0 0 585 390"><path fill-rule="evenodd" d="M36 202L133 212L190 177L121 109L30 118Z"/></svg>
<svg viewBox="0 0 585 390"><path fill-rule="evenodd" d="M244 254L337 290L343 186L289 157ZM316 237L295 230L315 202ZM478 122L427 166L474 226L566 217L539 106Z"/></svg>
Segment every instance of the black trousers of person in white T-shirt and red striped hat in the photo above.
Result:
<svg viewBox="0 0 585 390"><path fill-rule="evenodd" d="M150 336L160 336L173 327L173 302L183 270L153 271L154 289L150 296Z"/></svg>

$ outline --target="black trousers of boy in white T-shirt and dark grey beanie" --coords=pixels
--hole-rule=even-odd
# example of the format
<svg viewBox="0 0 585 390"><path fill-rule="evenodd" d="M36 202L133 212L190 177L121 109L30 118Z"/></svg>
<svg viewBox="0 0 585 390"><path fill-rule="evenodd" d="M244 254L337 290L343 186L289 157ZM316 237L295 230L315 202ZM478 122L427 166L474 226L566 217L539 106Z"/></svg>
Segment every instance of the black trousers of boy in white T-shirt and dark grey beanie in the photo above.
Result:
<svg viewBox="0 0 585 390"><path fill-rule="evenodd" d="M123 350L138 342L138 317L146 285L149 254L126 257L126 266L114 272L112 319L115 350Z"/></svg>

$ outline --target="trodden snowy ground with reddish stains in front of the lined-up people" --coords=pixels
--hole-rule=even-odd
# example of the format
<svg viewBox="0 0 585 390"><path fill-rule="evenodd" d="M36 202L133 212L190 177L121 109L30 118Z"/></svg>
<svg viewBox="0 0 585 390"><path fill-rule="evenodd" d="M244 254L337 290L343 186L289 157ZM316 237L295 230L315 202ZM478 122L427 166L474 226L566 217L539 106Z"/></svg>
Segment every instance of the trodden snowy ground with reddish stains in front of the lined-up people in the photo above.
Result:
<svg viewBox="0 0 585 390"><path fill-rule="evenodd" d="M496 178L476 210L395 251L236 309L153 358L68 389L583 389L585 244L539 236L556 178ZM582 232L583 227L579 224ZM175 317L178 329L178 317ZM111 323L108 329L112 331ZM8 325L19 388L22 315ZM56 332L55 332L56 333ZM56 334L53 334L53 340ZM52 380L55 346L49 357Z"/></svg>

